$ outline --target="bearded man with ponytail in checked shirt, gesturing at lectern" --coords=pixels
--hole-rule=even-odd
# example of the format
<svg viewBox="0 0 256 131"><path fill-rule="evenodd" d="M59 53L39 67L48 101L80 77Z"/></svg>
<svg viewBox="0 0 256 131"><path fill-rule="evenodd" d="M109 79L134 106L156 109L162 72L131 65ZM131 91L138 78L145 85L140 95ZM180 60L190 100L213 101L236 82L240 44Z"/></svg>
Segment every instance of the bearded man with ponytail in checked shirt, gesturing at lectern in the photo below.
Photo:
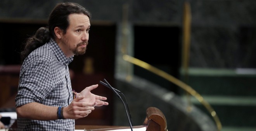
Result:
<svg viewBox="0 0 256 131"><path fill-rule="evenodd" d="M76 3L59 3L49 16L48 28L30 37L21 53L22 67L16 112L18 130L74 131L74 120L88 116L94 106L108 105L106 97L90 91L72 91L68 64L85 54L90 13Z"/></svg>

